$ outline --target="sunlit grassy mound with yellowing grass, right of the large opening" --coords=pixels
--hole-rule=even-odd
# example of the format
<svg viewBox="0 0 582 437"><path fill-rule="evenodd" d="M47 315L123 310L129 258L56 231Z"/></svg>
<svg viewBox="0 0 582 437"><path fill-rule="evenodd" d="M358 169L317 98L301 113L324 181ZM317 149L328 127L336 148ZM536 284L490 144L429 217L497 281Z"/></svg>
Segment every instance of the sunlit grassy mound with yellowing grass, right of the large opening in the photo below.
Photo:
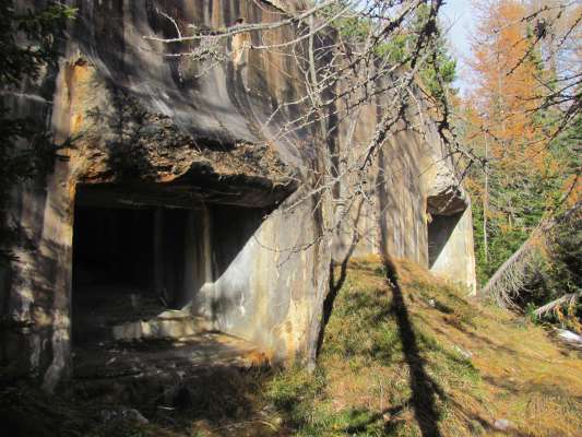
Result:
<svg viewBox="0 0 582 437"><path fill-rule="evenodd" d="M316 377L271 383L275 401L302 399L298 435L582 435L580 355L414 264L399 263L402 300L384 277L378 262L353 262Z"/></svg>

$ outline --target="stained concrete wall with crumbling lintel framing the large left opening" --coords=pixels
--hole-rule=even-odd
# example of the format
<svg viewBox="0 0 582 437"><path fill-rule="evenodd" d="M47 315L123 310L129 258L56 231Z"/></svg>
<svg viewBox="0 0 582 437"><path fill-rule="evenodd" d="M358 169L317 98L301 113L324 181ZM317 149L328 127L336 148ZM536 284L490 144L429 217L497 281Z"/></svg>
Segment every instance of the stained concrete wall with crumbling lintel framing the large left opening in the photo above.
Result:
<svg viewBox="0 0 582 437"><path fill-rule="evenodd" d="M318 168L308 132L271 140L271 129L288 119L293 108L264 123L280 103L301 93L289 79L296 67L276 54L242 52L199 78L204 66L168 60L159 55L166 47L144 42L143 35L173 32L154 2L75 4L72 38L59 70L46 78L54 83L52 95L44 102L23 96L14 102L23 111L46 114L57 142L75 141L60 152L66 160L55 163L46 181L14 190L8 221L19 225L20 234L1 300L2 312L23 328L3 339L2 358L20 361L49 390L70 375L78 200L85 206L192 209L188 232L206 243L187 245L185 258L191 264L185 269L190 273L186 283L195 303L189 308L214 328L259 345L274 361L312 362L329 243L293 249L316 240L323 223L312 218L314 200L288 213L264 215L264 210L285 204ZM214 27L240 16L254 22L281 17L280 10L253 1L156 5L180 24ZM283 40L288 32L266 37ZM302 196L301 189L293 196ZM259 223L250 223L242 211L213 209L209 214L206 204L263 214Z"/></svg>

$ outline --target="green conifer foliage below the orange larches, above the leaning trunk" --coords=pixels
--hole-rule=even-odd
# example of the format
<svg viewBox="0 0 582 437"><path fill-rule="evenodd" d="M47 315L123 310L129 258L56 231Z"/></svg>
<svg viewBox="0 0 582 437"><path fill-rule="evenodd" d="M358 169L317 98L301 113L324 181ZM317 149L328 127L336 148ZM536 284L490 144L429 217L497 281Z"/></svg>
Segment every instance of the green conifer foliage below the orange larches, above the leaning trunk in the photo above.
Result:
<svg viewBox="0 0 582 437"><path fill-rule="evenodd" d="M557 123L557 115L541 111L541 122L550 131ZM563 210L565 190L571 187L582 165L582 116L547 145L548 160L545 167L534 175L522 163L511 173L494 169L489 173L489 213L487 222L488 252L484 246L484 211L482 194L473 196L473 221L477 280L485 285L501 264L530 237L532 231L548 214ZM478 151L477 151L478 152ZM559 168L555 168L559 165ZM553 167L554 166L554 167ZM484 187L484 174L474 173L475 180Z"/></svg>

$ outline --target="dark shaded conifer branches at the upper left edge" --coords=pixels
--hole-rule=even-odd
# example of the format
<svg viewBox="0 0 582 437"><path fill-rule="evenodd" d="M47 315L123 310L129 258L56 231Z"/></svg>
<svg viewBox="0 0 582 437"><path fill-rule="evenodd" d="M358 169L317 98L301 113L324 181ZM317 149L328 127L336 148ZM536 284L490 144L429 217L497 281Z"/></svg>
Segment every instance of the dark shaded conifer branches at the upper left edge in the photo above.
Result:
<svg viewBox="0 0 582 437"><path fill-rule="evenodd" d="M50 4L39 11L17 12L12 0L0 0L0 88L26 90L44 69L54 66L73 8ZM14 184L43 173L55 160L57 146L44 120L19 117L7 98L0 101L0 208ZM0 229L2 243L11 229ZM7 253L1 252L1 258Z"/></svg>

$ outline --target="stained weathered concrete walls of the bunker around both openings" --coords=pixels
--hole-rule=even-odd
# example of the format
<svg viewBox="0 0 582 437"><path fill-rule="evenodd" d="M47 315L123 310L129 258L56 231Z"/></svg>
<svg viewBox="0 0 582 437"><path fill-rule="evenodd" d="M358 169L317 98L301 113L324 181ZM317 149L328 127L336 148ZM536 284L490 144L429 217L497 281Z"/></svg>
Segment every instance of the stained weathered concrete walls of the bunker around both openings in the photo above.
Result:
<svg viewBox="0 0 582 437"><path fill-rule="evenodd" d="M14 189L5 218L19 229L12 247L16 258L3 274L0 309L22 328L2 339L2 359L19 361L49 390L70 375L75 208L123 206L188 211L176 299L188 303L192 315L252 342L270 359L312 364L332 256L323 231L337 210L329 193L305 196L329 168L329 149L308 129L277 135L300 108L282 106L272 117L280 104L305 93L297 66L284 54L250 50L249 36L228 42L226 58L209 64L163 56L188 51L193 44L164 46L143 38L174 36L174 25L156 5L181 26L218 28L238 19L280 20L278 8L301 3L72 3L79 17L58 70L12 103L15 111L49 120L56 141L73 138L74 146L60 151L63 160L45 180ZM287 40L290 32L278 28L263 38ZM329 140L333 147L368 141L376 109L357 117L355 135L341 126L337 138ZM358 253L384 245L395 257L428 263L427 202L449 199L438 187L450 191L454 180L451 173L437 182L447 173L432 169L443 157L442 144L433 128L427 138L403 130L377 156L370 170L373 199L357 209L361 214L351 213L365 236ZM458 198L450 203L455 212ZM439 213L447 208L440 205ZM155 247L157 291L167 285L166 273L175 264L163 261L168 255L164 235L173 227L164 211L156 213L147 236ZM465 243L467 223L454 231ZM348 227L335 238L337 258L345 252ZM451 246L448 259L474 262L468 248L468 243ZM468 284L470 270L458 280ZM449 274L446 265L442 272Z"/></svg>

